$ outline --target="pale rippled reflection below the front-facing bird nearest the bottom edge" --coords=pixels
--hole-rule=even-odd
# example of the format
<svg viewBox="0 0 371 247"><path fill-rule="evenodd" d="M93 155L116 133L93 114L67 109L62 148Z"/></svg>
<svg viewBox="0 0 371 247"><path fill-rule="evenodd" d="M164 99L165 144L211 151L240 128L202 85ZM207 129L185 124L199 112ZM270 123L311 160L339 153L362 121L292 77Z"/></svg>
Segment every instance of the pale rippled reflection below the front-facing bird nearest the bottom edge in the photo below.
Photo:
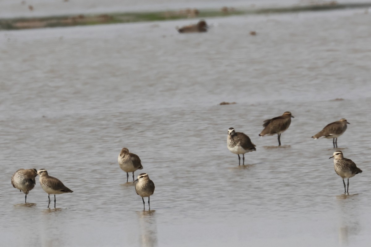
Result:
<svg viewBox="0 0 371 247"><path fill-rule="evenodd" d="M157 222L156 210L138 211L138 221L140 228L140 243L142 247L157 246Z"/></svg>

